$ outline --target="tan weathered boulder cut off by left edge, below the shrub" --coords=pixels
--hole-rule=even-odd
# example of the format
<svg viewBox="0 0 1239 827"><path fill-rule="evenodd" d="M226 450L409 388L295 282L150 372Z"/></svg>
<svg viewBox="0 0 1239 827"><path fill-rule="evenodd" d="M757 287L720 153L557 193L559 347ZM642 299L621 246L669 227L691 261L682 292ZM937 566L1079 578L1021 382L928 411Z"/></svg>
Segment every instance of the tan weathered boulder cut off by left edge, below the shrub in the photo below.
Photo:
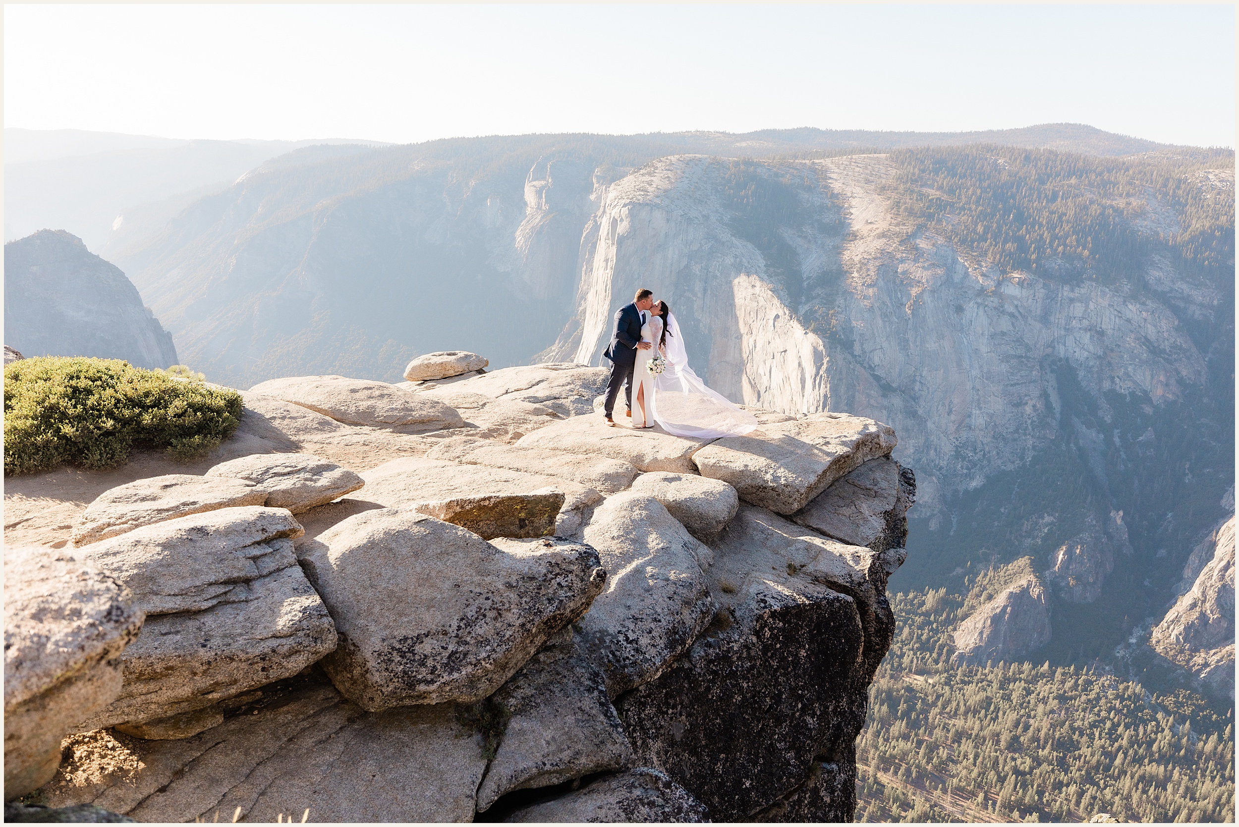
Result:
<svg viewBox="0 0 1239 827"><path fill-rule="evenodd" d="M56 773L61 739L120 692L120 654L144 613L98 567L67 551L4 551L4 791Z"/></svg>

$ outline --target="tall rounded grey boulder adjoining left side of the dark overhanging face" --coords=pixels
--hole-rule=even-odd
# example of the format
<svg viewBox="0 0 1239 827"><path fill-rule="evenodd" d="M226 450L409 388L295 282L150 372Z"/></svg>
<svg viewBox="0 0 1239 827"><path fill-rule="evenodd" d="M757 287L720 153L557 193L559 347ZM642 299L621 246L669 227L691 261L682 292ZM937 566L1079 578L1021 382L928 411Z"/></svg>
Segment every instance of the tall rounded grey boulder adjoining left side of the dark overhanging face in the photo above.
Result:
<svg viewBox="0 0 1239 827"><path fill-rule="evenodd" d="M577 639L616 697L655 678L710 623L714 600L701 572L710 550L643 494L600 505L585 541L611 584L577 623Z"/></svg>

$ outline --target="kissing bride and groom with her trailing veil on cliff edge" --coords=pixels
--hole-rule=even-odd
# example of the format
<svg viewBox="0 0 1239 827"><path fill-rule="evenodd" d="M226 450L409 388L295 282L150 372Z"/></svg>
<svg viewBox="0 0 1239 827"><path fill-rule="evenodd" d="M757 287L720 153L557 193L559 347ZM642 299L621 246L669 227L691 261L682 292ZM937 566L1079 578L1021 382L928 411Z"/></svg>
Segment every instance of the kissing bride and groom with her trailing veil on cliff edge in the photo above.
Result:
<svg viewBox="0 0 1239 827"><path fill-rule="evenodd" d="M602 355L611 360L602 415L612 427L621 385L634 428L657 422L674 436L717 438L757 427L752 413L706 388L693 373L680 326L652 290L642 287L631 305L616 311L611 343Z"/></svg>

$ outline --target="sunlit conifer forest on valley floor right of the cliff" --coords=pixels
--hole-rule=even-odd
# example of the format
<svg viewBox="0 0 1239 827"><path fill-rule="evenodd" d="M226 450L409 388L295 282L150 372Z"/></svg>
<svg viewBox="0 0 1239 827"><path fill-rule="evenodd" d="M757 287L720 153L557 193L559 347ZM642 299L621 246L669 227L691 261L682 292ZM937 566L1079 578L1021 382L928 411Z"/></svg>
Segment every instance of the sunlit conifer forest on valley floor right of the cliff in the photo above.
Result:
<svg viewBox="0 0 1239 827"><path fill-rule="evenodd" d="M981 589L892 600L856 743L857 821L1234 821L1230 708L1098 662L952 666L950 631Z"/></svg>

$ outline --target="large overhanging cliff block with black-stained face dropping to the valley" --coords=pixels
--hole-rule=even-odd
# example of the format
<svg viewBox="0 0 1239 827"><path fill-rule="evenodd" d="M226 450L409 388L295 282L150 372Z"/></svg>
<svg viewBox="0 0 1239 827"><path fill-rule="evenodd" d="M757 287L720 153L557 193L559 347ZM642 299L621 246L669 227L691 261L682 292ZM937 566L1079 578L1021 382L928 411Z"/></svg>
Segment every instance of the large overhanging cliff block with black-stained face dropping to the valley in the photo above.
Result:
<svg viewBox="0 0 1239 827"><path fill-rule="evenodd" d="M638 763L665 771L714 821L758 820L797 795L799 820L850 820L860 687L895 630L890 552L751 505L712 548L710 626L616 703Z"/></svg>

